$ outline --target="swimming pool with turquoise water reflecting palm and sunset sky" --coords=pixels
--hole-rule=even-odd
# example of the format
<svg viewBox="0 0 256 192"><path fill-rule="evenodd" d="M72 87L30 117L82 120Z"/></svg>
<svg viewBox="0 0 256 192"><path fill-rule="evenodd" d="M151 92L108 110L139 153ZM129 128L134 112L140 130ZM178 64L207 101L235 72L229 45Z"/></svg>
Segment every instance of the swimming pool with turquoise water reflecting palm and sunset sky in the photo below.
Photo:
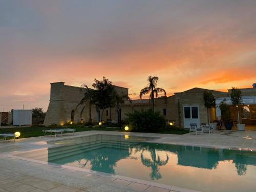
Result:
<svg viewBox="0 0 256 192"><path fill-rule="evenodd" d="M18 156L198 191L255 191L255 152L155 139L91 135L54 141L55 147Z"/></svg>

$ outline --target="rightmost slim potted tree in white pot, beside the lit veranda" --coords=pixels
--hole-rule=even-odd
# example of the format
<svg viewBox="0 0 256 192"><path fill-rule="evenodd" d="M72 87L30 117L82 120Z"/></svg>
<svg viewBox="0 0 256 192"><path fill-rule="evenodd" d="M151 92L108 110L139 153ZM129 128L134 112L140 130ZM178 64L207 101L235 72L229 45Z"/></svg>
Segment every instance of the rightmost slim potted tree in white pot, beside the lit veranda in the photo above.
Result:
<svg viewBox="0 0 256 192"><path fill-rule="evenodd" d="M245 131L245 124L240 124L240 115L239 115L240 105L243 104L241 90L232 87L230 99L232 101L233 106L235 106L238 110L238 124L237 124L238 130Z"/></svg>

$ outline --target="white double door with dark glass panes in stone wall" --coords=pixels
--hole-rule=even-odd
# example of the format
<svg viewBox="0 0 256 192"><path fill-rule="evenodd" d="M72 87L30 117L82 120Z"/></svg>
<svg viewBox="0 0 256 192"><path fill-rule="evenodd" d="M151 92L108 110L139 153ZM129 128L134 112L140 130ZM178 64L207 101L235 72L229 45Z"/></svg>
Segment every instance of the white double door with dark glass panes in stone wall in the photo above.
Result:
<svg viewBox="0 0 256 192"><path fill-rule="evenodd" d="M189 128L190 123L196 123L197 127L200 126L198 106L183 106L183 114L184 128Z"/></svg>

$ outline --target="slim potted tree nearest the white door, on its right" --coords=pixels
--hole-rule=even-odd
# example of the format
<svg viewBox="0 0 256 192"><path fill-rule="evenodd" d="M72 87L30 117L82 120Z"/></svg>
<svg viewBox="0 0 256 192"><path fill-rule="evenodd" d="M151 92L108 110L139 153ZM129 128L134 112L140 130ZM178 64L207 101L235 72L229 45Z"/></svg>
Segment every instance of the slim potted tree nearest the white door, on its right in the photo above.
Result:
<svg viewBox="0 0 256 192"><path fill-rule="evenodd" d="M208 117L208 124L210 127L212 127L213 130L216 130L217 123L210 123L210 115L209 115L209 109L215 108L216 106L216 99L214 97L214 94L209 91L204 92L204 106L207 108L207 117Z"/></svg>

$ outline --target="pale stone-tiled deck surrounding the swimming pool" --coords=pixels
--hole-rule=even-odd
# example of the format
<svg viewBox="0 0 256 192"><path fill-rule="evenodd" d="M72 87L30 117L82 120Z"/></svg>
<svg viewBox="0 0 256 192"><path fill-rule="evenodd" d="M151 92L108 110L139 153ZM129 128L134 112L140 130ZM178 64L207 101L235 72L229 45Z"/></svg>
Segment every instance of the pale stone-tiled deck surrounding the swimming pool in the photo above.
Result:
<svg viewBox="0 0 256 192"><path fill-rule="evenodd" d="M217 131L204 135L169 135L90 131L75 133L75 136L92 134L129 134L161 137L156 142L183 145L209 146L220 148L238 148L256 151L256 131ZM62 138L65 138L63 136ZM73 136L67 136L73 137ZM60 137L58 137L59 139ZM47 140L53 137L34 137L0 142L0 192L1 191L191 191L177 187L130 180L125 177L108 176L79 169L69 169L57 165L49 165L17 159L10 154L48 147ZM173 189L173 190L172 190ZM175 189L175 190L174 190Z"/></svg>

